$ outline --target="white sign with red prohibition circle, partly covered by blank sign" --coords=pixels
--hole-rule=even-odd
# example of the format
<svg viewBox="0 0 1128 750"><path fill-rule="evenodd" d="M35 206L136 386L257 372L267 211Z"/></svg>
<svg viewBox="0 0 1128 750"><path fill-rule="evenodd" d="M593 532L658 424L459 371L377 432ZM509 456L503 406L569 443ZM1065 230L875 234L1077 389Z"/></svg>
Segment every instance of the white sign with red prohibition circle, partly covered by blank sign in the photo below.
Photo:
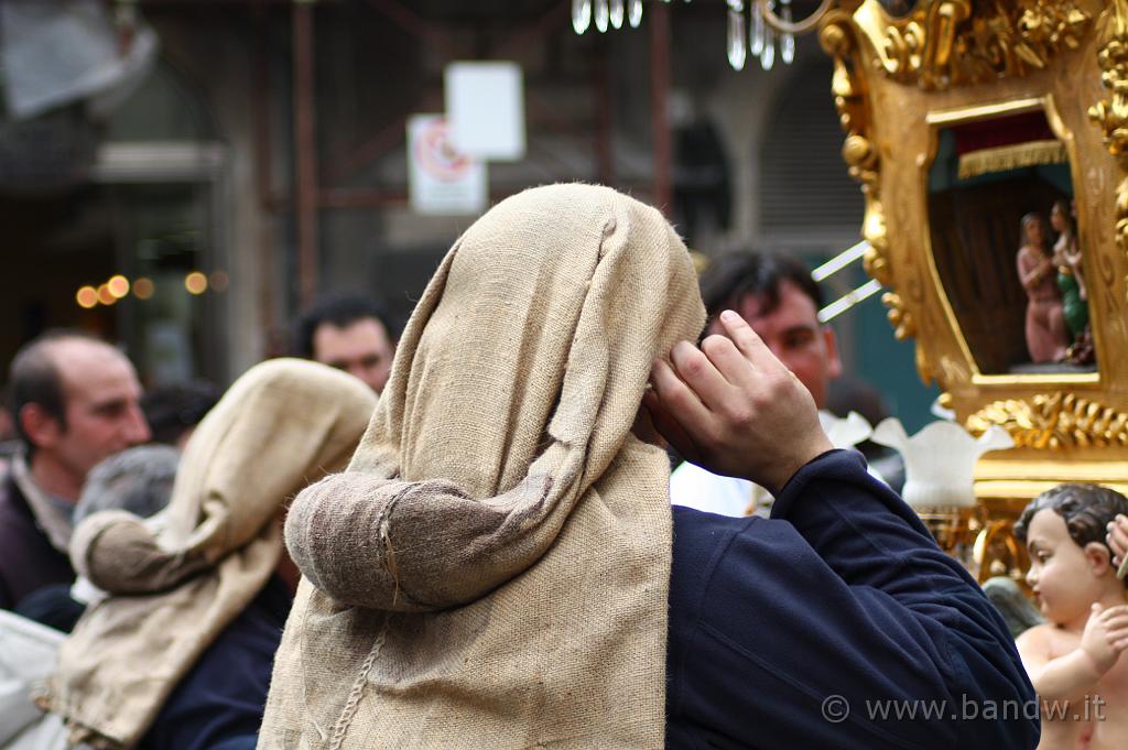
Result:
<svg viewBox="0 0 1128 750"><path fill-rule="evenodd" d="M481 213L490 200L485 162L453 147L443 115L407 121L407 188L418 213Z"/></svg>

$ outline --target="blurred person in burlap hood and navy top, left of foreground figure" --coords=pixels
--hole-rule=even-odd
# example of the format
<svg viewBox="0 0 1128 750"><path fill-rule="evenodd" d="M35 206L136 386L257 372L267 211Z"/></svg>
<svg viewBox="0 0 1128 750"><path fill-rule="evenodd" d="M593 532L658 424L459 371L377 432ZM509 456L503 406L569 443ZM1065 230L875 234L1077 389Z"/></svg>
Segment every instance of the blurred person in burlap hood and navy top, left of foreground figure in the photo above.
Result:
<svg viewBox="0 0 1128 750"><path fill-rule="evenodd" d="M103 592L63 643L43 703L99 749L254 748L298 572L285 503L340 470L376 396L299 360L240 377L188 440L169 505L95 513L71 559Z"/></svg>

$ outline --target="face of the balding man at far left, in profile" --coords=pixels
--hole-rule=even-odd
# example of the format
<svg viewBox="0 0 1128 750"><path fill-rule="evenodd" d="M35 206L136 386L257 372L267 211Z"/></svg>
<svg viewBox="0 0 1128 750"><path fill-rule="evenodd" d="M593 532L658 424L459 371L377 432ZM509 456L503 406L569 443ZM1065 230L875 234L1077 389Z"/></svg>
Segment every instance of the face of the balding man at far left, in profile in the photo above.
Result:
<svg viewBox="0 0 1128 750"><path fill-rule="evenodd" d="M133 365L113 346L80 338L51 347L62 380L67 424L54 423L36 451L50 453L81 483L102 459L149 440L141 385Z"/></svg>

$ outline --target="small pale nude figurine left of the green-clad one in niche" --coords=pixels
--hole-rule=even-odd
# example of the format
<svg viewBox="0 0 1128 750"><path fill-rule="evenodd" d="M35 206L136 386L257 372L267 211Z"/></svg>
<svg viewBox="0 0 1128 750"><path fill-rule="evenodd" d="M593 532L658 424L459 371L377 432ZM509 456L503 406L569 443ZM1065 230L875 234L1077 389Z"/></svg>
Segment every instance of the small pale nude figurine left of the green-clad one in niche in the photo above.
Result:
<svg viewBox="0 0 1128 750"><path fill-rule="evenodd" d="M1040 213L1022 218L1019 248L1019 281L1026 290L1026 348L1030 361L1057 362L1065 359L1069 333L1061 295L1055 284L1057 266L1049 250L1049 227Z"/></svg>

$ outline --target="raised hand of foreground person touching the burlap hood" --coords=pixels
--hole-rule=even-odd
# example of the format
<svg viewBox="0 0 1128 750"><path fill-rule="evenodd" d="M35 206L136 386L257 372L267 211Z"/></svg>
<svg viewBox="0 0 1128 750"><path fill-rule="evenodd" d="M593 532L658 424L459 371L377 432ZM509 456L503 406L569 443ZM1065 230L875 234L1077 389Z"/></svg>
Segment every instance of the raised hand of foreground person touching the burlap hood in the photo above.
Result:
<svg viewBox="0 0 1128 750"><path fill-rule="evenodd" d="M643 404L689 461L776 493L832 445L811 394L743 318L725 310L721 325L728 337L710 336L699 350L679 342L670 363L654 362Z"/></svg>

